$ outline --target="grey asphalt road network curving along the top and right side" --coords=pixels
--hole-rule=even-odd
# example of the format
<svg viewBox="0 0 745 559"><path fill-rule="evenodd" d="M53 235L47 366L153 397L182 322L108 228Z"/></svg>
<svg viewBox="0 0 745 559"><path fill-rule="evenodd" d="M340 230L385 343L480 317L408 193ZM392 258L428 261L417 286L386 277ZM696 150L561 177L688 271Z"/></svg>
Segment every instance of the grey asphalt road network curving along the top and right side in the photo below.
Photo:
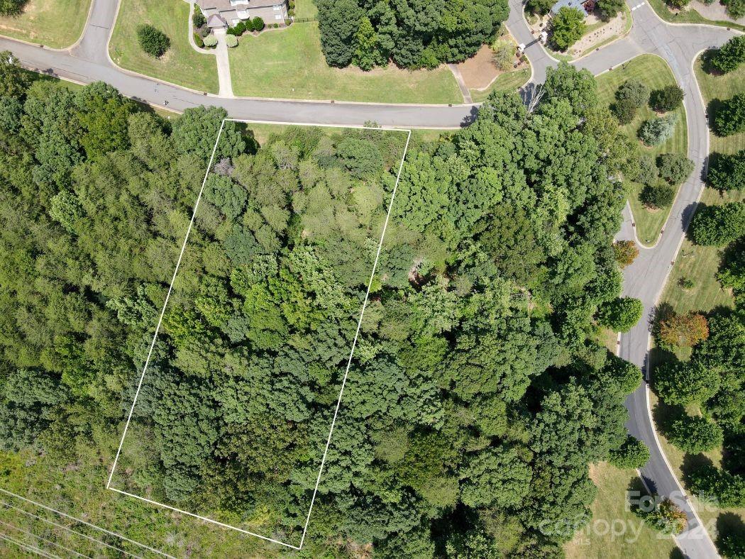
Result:
<svg viewBox="0 0 745 559"><path fill-rule="evenodd" d="M635 5L636 2L630 4ZM476 105L358 104L203 95L135 75L115 66L108 57L107 49L117 10L118 2L93 0L83 37L72 48L54 51L0 37L0 49L13 51L28 68L59 78L81 83L103 80L124 95L153 105L164 106L167 102L168 108L173 110L185 110L198 105L224 107L229 116L235 119L297 124L364 124L365 121L375 121L382 126L443 128L469 124L478 108ZM624 271L624 295L642 300L644 318L621 337L619 353L624 359L646 369L653 309L704 186L708 127L692 63L700 51L722 45L733 33L708 25L669 25L662 22L647 4L637 7L632 13L633 28L627 37L577 60L574 64L598 75L638 54L658 54L671 66L673 75L685 90L688 155L695 162L694 173L681 186L658 244L651 250L643 249L633 265ZM531 82L542 83L546 69L555 66L557 61L531 34L522 15L521 0L510 0L507 26L516 40L526 45L526 54L533 69ZM627 207L618 239L634 239L632 219ZM627 423L629 432L650 448L650 461L641 468L642 479L649 490L671 496L688 515L688 529L677 538L684 554L691 558L716 558L717 551L711 537L702 529L700 520L685 498L685 493L659 446L650 417L647 392L645 379L641 388L631 394L626 402L630 415Z"/></svg>

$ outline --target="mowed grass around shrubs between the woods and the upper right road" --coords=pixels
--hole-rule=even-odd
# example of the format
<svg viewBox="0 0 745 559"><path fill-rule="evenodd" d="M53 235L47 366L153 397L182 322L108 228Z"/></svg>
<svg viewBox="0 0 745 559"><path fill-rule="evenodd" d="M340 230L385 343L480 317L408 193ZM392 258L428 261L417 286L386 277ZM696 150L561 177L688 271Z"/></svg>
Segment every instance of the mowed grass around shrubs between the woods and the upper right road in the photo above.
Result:
<svg viewBox="0 0 745 559"><path fill-rule="evenodd" d="M615 101L615 92L618 86L621 86L621 83L624 83L624 81L631 79L645 83L650 91L667 85L676 85L673 72L671 72L665 60L654 54L642 54L630 62L597 77L600 100L605 104L612 104ZM623 130L630 138L639 143L642 153L650 157L657 157L659 154L687 155L688 125L685 121L685 109L680 107L674 112L678 115L678 124L673 137L655 148L647 148L636 136L641 123L656 116L654 111L648 106L641 107L636 114L636 118L630 124L625 125ZM626 186L636 223L636 235L641 243L647 245L654 244L659 237L662 226L668 218L670 208L658 210L647 209L638 198L643 186L630 180L627 181Z"/></svg>

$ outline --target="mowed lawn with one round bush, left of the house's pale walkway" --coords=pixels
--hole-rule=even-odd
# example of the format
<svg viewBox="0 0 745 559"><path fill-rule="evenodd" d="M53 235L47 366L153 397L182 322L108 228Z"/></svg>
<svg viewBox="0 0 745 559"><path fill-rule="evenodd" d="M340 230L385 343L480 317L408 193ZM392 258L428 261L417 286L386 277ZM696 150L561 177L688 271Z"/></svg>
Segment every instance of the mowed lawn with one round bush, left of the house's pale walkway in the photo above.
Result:
<svg viewBox="0 0 745 559"><path fill-rule="evenodd" d="M189 4L183 0L121 0L109 43L112 60L124 69L180 86L217 93L218 63L212 54L194 51L188 42ZM137 27L149 23L171 40L160 58L145 54Z"/></svg>

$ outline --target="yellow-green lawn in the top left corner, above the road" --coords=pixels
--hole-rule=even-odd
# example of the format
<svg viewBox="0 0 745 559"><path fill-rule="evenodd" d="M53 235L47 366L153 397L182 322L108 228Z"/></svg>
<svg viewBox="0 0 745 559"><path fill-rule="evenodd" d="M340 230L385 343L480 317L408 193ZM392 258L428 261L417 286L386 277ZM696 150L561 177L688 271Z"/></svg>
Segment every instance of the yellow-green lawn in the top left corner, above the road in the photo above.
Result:
<svg viewBox="0 0 745 559"><path fill-rule="evenodd" d="M91 0L31 0L19 16L0 17L0 35L67 48L83 34Z"/></svg>

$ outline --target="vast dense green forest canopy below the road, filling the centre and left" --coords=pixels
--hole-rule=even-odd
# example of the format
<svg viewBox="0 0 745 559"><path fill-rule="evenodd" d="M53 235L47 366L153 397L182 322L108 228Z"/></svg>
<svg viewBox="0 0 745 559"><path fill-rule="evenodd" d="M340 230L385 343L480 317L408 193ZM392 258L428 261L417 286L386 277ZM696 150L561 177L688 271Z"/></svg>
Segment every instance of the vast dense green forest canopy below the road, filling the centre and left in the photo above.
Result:
<svg viewBox="0 0 745 559"><path fill-rule="evenodd" d="M83 449L103 482L225 113L165 121L103 83L4 91L0 486L39 464L77 479ZM589 464L633 446L641 373L594 316L621 291L638 154L588 73L562 65L542 92L413 142L304 556L558 555L589 520ZM297 543L404 140L259 145L226 123L115 487Z"/></svg>

